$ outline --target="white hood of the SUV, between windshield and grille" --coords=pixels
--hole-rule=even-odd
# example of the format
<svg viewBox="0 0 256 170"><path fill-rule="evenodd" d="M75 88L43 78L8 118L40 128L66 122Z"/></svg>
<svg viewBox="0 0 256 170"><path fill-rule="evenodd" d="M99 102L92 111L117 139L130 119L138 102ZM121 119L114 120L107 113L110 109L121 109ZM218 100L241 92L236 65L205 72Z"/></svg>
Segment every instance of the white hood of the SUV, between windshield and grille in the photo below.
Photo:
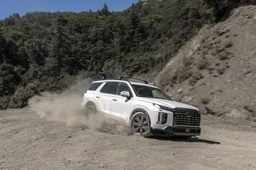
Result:
<svg viewBox="0 0 256 170"><path fill-rule="evenodd" d="M170 107L172 109L175 109L176 107L178 107L178 108L184 108L184 109L195 109L198 111L198 109L196 107L193 107L189 104L183 104L178 101L169 101L169 100L165 100L165 99L161 99L161 98L143 98L143 97L140 97L139 100L146 101L146 102L149 102L152 104L159 104L164 107Z"/></svg>

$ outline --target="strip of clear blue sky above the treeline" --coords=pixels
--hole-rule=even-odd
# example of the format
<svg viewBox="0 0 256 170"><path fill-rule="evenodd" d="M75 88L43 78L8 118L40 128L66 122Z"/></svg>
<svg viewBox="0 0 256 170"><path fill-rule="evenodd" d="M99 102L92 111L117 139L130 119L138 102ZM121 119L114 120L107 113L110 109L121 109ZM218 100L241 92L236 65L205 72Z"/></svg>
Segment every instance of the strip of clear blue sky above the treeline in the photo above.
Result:
<svg viewBox="0 0 256 170"><path fill-rule="evenodd" d="M20 17L26 12L95 12L104 3L109 11L123 11L139 0L0 0L0 20L9 18L13 13Z"/></svg>

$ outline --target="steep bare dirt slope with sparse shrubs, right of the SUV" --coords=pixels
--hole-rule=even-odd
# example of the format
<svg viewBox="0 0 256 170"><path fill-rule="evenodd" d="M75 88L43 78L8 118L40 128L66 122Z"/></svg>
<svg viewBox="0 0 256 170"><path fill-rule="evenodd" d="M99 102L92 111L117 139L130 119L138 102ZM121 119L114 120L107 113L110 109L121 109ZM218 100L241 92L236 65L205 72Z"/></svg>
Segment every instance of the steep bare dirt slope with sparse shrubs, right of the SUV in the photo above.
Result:
<svg viewBox="0 0 256 170"><path fill-rule="evenodd" d="M256 6L202 28L154 83L212 115L256 120Z"/></svg>

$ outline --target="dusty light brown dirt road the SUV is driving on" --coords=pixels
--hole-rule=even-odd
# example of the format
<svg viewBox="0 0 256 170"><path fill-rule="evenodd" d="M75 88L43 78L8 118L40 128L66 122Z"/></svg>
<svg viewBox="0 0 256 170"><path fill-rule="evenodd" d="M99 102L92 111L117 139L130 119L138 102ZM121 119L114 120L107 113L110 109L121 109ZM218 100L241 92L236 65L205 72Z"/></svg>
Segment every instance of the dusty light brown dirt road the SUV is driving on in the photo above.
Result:
<svg viewBox="0 0 256 170"><path fill-rule="evenodd" d="M0 128L0 169L256 169L253 122L203 116L185 142L69 127L27 107L0 111Z"/></svg>

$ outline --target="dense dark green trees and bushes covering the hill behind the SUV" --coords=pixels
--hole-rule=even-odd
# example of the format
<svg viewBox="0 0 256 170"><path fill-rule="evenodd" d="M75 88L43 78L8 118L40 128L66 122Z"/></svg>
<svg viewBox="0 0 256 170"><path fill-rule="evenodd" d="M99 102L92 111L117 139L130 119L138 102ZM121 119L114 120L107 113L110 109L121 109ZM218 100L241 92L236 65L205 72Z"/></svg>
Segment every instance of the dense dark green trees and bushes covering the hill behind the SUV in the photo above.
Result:
<svg viewBox="0 0 256 170"><path fill-rule="evenodd" d="M216 3L222 1L148 0L123 12L105 4L97 12L30 12L0 20L0 109L24 107L31 96L61 90L78 75L160 69L213 20Z"/></svg>

